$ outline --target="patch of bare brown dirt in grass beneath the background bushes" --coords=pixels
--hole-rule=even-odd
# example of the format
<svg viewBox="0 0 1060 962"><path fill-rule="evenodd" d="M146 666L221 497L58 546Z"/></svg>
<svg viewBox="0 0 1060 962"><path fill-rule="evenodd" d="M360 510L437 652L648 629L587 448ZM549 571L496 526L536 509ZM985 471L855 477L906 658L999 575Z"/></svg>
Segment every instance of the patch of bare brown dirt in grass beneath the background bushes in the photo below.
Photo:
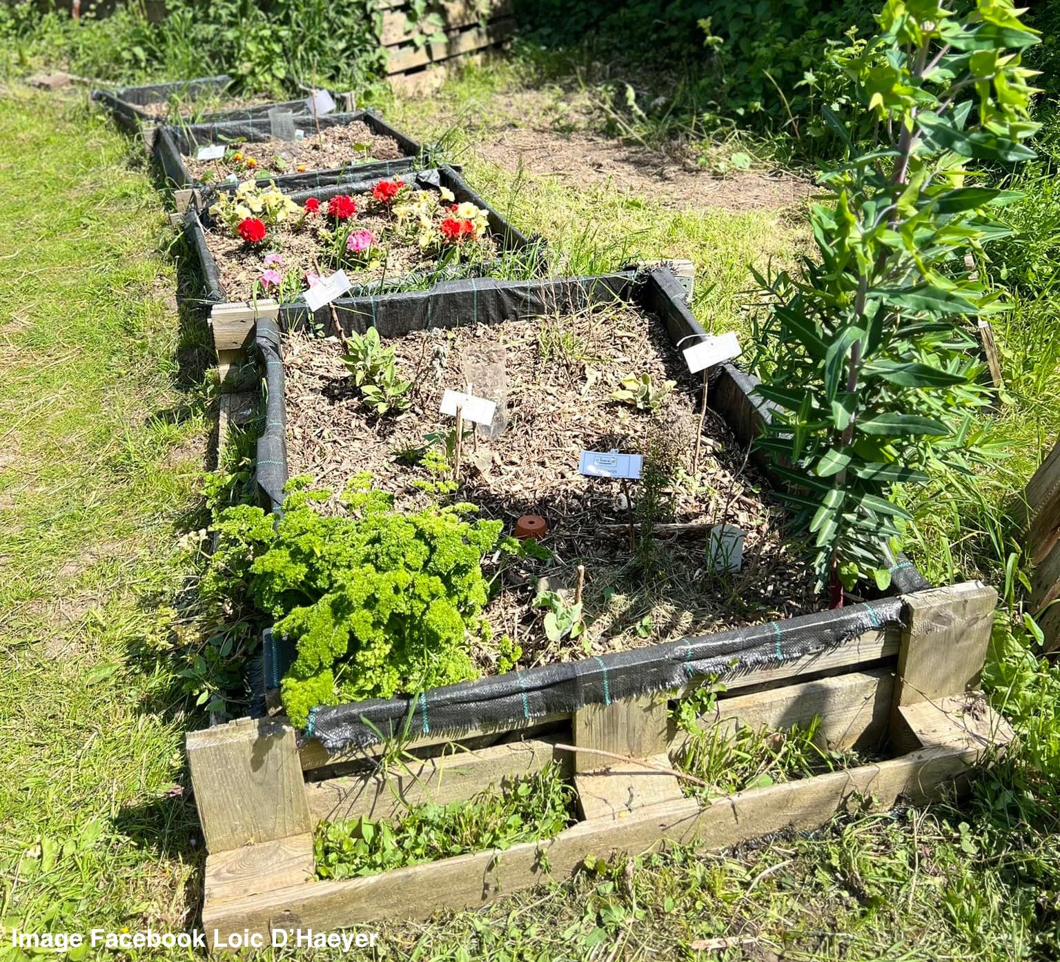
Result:
<svg viewBox="0 0 1060 962"><path fill-rule="evenodd" d="M555 177L570 186L605 186L678 210L775 210L805 202L813 190L811 183L791 174L740 171L718 175L677 154L583 132L511 127L485 137L477 153L509 171Z"/></svg>

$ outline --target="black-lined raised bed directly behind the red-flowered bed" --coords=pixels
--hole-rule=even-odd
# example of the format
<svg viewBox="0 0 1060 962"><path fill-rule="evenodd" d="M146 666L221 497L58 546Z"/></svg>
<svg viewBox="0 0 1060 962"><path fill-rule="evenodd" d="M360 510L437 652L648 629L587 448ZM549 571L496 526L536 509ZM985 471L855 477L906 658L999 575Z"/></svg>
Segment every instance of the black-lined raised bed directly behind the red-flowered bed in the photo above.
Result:
<svg viewBox="0 0 1060 962"><path fill-rule="evenodd" d="M268 117L166 125L157 130L154 154L174 189L178 211L198 201L206 189L233 191L247 180L272 181L290 193L390 177L426 162L420 144L370 110L319 118L303 113L294 129L301 139L277 140ZM211 146L225 147L224 156L196 159Z"/></svg>

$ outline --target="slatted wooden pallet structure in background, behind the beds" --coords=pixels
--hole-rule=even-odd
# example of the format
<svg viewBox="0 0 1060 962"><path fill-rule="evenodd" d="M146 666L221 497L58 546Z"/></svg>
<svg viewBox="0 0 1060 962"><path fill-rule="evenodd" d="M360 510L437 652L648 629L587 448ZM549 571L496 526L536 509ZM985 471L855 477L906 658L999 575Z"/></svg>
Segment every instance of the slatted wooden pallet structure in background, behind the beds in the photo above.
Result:
<svg viewBox="0 0 1060 962"><path fill-rule="evenodd" d="M381 40L387 49L387 75L405 93L437 88L447 68L469 55L502 43L515 32L512 0L442 0L430 12L441 15L444 40L417 41L418 28L408 19L407 0L384 0Z"/></svg>

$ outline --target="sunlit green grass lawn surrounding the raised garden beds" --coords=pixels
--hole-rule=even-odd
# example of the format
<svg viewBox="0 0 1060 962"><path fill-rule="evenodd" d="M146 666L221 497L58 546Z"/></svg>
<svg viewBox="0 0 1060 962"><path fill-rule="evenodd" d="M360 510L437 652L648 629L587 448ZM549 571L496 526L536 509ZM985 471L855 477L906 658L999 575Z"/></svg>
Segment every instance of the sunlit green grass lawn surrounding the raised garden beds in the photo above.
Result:
<svg viewBox="0 0 1060 962"><path fill-rule="evenodd" d="M497 86L454 85L438 103L489 105ZM393 106L418 133L448 123ZM205 717L177 674L207 627L178 550L201 523L214 416L204 327L176 309L160 195L105 117L5 90L0 173L0 925L181 930L197 925L204 861L182 742ZM797 217L776 211L631 204L474 159L467 176L519 226L565 244L576 268L605 266L590 245L619 257L631 225L638 251L691 256L695 308L720 329L745 323L747 261L801 244ZM991 517L1056 435L1053 361L1041 349L1028 363L1025 346L1028 329L1054 342L1056 315L1040 292L1034 303L999 332L1014 394L1000 430L1024 450L987 479ZM982 532L964 542L970 512L959 501L924 514L918 560L944 539L954 576L1000 575L1004 555L984 552ZM1056 959L1060 674L1010 625L1004 614L988 677L1021 742L959 807L853 813L732 852L619 860L482 912L384 926L377 954Z"/></svg>

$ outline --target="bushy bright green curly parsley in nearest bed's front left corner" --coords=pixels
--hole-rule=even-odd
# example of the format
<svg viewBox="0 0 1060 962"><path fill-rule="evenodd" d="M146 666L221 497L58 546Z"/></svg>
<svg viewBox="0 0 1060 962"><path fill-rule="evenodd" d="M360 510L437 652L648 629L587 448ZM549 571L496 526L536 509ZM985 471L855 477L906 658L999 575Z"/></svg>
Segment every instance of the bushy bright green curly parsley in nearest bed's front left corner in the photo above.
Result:
<svg viewBox="0 0 1060 962"><path fill-rule="evenodd" d="M389 698L474 678L469 640L488 633L481 560L500 521L469 521L471 504L393 511L370 477L354 478L347 513L325 515L330 492L288 485L283 516L240 505L223 512L207 588L245 591L297 647L281 683L283 707L303 726L317 705Z"/></svg>

